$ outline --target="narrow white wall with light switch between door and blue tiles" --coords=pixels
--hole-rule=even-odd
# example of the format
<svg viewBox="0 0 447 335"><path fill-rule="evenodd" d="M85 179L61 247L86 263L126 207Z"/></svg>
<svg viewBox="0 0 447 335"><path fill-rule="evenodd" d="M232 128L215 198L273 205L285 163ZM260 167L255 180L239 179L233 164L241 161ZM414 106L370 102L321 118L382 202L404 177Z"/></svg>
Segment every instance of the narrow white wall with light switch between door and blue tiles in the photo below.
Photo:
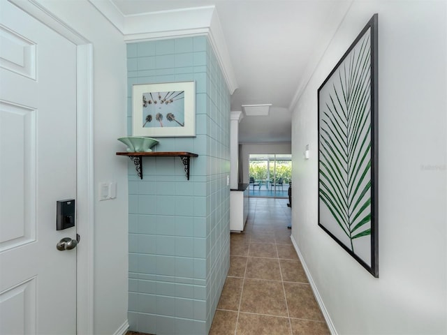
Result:
<svg viewBox="0 0 447 335"><path fill-rule="evenodd" d="M94 334L115 334L127 322L128 160L115 155L126 135L126 46L87 0L40 2L93 44ZM117 181L115 200L98 201L101 181Z"/></svg>

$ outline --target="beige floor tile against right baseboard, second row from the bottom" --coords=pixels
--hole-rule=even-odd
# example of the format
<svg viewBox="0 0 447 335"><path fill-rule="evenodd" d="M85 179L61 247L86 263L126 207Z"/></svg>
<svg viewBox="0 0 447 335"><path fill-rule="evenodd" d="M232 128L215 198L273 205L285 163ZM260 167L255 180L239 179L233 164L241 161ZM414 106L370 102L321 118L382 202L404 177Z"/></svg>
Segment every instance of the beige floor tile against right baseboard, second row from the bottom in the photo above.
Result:
<svg viewBox="0 0 447 335"><path fill-rule="evenodd" d="M309 284L284 283L288 313L291 318L323 321L314 293Z"/></svg>

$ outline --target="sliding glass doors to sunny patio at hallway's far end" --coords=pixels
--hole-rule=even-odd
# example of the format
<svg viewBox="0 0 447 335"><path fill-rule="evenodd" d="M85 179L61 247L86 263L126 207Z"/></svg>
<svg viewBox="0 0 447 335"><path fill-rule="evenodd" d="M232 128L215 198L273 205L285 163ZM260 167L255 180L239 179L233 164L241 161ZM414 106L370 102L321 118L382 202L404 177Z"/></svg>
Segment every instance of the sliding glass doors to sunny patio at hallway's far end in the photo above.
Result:
<svg viewBox="0 0 447 335"><path fill-rule="evenodd" d="M251 197L288 198L291 178L291 154L249 155L249 195Z"/></svg>

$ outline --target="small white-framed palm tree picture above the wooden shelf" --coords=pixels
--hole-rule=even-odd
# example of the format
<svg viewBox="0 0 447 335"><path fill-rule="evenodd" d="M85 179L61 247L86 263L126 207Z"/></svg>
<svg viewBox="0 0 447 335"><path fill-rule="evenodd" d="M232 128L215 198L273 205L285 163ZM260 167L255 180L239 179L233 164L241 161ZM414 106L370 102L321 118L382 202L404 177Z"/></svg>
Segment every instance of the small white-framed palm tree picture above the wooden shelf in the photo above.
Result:
<svg viewBox="0 0 447 335"><path fill-rule="evenodd" d="M132 134L149 137L196 136L195 82L134 84Z"/></svg>

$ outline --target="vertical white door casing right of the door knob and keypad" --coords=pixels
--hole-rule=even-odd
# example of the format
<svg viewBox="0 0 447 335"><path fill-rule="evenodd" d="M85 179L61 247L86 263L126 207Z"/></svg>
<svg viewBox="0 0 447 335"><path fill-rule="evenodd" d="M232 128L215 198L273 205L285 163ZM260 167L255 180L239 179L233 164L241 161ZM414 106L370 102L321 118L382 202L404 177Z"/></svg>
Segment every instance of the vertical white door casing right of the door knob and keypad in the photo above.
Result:
<svg viewBox="0 0 447 335"><path fill-rule="evenodd" d="M94 334L93 45L78 45L78 334Z"/></svg>

